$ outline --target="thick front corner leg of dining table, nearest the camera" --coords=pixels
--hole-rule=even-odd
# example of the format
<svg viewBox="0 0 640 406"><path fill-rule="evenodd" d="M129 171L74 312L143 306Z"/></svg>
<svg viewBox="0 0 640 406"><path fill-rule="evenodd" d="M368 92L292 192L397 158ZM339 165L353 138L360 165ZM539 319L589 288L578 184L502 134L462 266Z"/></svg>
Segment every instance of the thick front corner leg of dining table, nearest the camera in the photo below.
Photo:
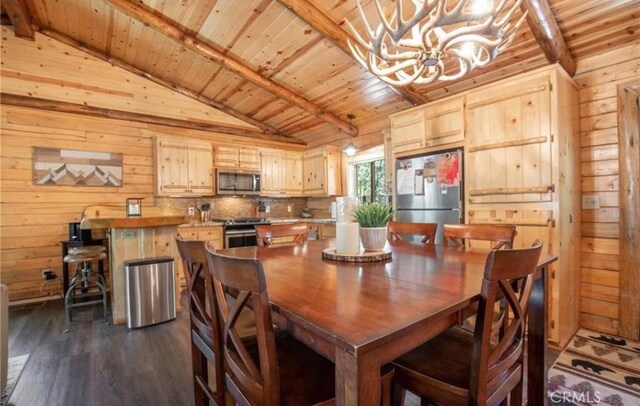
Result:
<svg viewBox="0 0 640 406"><path fill-rule="evenodd" d="M380 361L375 353L355 356L336 349L336 405L379 405Z"/></svg>

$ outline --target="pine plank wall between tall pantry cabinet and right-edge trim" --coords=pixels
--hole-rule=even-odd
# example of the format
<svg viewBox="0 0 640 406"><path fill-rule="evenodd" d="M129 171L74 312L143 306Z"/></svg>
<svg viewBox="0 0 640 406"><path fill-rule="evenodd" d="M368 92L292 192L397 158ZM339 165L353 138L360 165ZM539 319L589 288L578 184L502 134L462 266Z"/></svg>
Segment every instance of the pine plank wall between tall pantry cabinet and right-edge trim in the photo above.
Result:
<svg viewBox="0 0 640 406"><path fill-rule="evenodd" d="M582 210L581 324L617 334L619 303L619 186L617 86L640 76L640 44L578 61L582 197L600 208Z"/></svg>

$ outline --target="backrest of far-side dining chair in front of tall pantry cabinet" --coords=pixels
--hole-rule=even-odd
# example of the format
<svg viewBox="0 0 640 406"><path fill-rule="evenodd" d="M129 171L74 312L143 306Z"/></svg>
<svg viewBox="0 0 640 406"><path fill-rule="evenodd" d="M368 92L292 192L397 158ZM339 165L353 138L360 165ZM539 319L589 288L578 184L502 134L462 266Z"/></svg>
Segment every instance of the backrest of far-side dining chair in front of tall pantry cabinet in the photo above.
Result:
<svg viewBox="0 0 640 406"><path fill-rule="evenodd" d="M464 247L467 240L491 241L491 249L513 248L516 227L493 224L445 224L443 244Z"/></svg>

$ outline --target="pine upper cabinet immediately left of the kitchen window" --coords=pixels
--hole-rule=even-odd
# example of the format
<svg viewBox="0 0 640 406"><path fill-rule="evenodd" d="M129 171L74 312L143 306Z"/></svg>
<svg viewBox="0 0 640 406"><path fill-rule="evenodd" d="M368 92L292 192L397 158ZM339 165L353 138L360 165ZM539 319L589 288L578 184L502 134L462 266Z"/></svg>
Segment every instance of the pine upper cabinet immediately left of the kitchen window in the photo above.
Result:
<svg viewBox="0 0 640 406"><path fill-rule="evenodd" d="M315 148L303 153L305 196L342 194L342 151L337 147Z"/></svg>

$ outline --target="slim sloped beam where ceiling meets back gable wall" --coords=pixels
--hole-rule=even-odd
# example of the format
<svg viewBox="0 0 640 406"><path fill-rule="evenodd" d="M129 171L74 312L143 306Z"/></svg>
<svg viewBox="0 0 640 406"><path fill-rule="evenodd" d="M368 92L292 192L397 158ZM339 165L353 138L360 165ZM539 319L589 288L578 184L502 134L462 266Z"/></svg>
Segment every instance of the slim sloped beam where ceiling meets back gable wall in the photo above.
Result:
<svg viewBox="0 0 640 406"><path fill-rule="evenodd" d="M62 34L58 31L55 31L53 29L49 29L49 28L40 28L40 32L50 38L53 38L57 41L60 41L66 45L69 45L73 48L76 48L82 52L86 52L89 55L96 57L98 59L102 59L103 61L109 62L110 64L117 66L121 69L124 69L128 72L131 72L133 74L136 74L138 76L141 76L145 79L151 80L152 82L155 82L161 86L164 86L170 90L173 90L177 93L180 93L184 96L190 97L192 99L195 99L197 101L199 101L200 103L206 104L210 107L216 108L220 111L222 111L223 113L226 113L230 116L233 116L239 120L242 120L244 122L247 122L249 124L252 124L258 128L260 128L261 130L263 130L266 133L269 134L276 134L276 135L282 135L283 137L289 137L287 135L283 135L280 133L280 131L277 128L274 128L273 126L270 126L268 124L262 123L252 117L249 117L246 114L240 113L239 111L236 111L232 108L229 108L227 106L225 106L224 104L217 102L213 99L210 99L206 96L203 96L197 92L194 92L193 90L187 89L185 87L182 86L178 86L175 85L167 80L161 79L157 76L154 76L152 74L150 74L147 71L144 71L142 69L139 69L125 61L123 61L122 59L116 58L114 56L108 55L103 51L100 51L96 48L93 48L87 44L84 44L82 42L79 42L65 34ZM293 139L293 137L290 137Z"/></svg>

